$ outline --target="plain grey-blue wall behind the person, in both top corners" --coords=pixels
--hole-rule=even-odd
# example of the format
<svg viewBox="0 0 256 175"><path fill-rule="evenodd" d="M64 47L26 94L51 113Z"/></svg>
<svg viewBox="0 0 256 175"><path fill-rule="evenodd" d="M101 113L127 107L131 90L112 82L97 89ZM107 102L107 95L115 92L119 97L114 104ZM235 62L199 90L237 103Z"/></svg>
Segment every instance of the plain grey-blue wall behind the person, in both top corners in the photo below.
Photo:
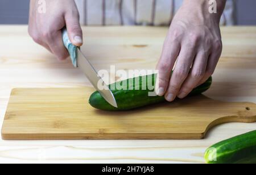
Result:
<svg viewBox="0 0 256 175"><path fill-rule="evenodd" d="M29 1L0 0L0 24L27 24ZM236 0L236 22L238 25L256 25L255 0Z"/></svg>

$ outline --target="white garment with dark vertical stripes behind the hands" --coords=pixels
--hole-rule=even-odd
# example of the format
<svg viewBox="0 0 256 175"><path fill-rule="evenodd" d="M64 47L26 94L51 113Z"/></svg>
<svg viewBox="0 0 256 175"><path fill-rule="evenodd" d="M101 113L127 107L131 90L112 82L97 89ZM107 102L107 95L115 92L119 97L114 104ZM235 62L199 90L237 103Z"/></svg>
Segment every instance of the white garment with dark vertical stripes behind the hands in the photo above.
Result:
<svg viewBox="0 0 256 175"><path fill-rule="evenodd" d="M86 26L169 26L182 0L75 0ZM234 2L228 0L221 25L234 24Z"/></svg>

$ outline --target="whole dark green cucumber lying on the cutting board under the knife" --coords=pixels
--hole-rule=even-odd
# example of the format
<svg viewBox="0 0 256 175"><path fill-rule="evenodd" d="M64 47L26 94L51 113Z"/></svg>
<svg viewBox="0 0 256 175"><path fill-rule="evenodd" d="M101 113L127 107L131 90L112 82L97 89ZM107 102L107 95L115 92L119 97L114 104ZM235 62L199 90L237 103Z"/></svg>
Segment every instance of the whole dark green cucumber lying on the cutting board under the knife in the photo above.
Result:
<svg viewBox="0 0 256 175"><path fill-rule="evenodd" d="M208 90L211 84L212 84L212 77L208 78L208 80L204 84L193 89L193 91L189 95L191 96L191 95L201 94L204 91ZM150 85L153 88L150 88ZM138 107L143 107L143 106L166 101L164 97L159 97L159 96L150 97L148 95L149 92L154 92L154 86L155 86L155 74L136 77L136 78L130 78L128 80L116 82L115 84L109 85L110 90L112 91L115 97L115 100L117 101L118 108L113 107L107 101L105 101L105 99L101 96L101 94L98 91L94 92L90 96L89 103L92 107L100 110L122 111L122 110L136 109ZM120 87L126 87L126 88L123 88L125 90L123 89L118 90L120 89ZM143 87L146 87L146 88L143 88ZM130 89L133 89L133 90L130 90Z"/></svg>

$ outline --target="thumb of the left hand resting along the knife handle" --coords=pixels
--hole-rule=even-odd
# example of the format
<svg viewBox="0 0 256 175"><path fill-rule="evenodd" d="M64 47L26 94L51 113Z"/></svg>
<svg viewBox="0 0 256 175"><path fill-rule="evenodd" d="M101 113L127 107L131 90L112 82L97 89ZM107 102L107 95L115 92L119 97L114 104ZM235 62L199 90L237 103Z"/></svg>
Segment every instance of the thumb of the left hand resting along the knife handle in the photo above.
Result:
<svg viewBox="0 0 256 175"><path fill-rule="evenodd" d="M65 23L68 31L68 38L73 45L82 45L82 29L79 23L79 13L67 13L65 15Z"/></svg>

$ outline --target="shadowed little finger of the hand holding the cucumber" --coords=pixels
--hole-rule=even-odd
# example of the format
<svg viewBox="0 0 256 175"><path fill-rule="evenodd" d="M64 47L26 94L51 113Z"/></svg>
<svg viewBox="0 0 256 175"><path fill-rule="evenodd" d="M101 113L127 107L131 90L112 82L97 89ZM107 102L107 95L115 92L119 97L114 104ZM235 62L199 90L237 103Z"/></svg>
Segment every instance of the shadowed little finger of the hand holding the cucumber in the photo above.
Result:
<svg viewBox="0 0 256 175"><path fill-rule="evenodd" d="M201 81L199 82L199 84L197 84L197 86L204 84L204 82L207 81L208 78L212 76L212 74L214 73L214 70L216 69L216 66L218 64L218 60L220 60L220 56L221 56L221 51L222 51L221 42L214 46L214 51L215 52L212 52L209 56L207 69L205 71L205 76L201 79Z"/></svg>

